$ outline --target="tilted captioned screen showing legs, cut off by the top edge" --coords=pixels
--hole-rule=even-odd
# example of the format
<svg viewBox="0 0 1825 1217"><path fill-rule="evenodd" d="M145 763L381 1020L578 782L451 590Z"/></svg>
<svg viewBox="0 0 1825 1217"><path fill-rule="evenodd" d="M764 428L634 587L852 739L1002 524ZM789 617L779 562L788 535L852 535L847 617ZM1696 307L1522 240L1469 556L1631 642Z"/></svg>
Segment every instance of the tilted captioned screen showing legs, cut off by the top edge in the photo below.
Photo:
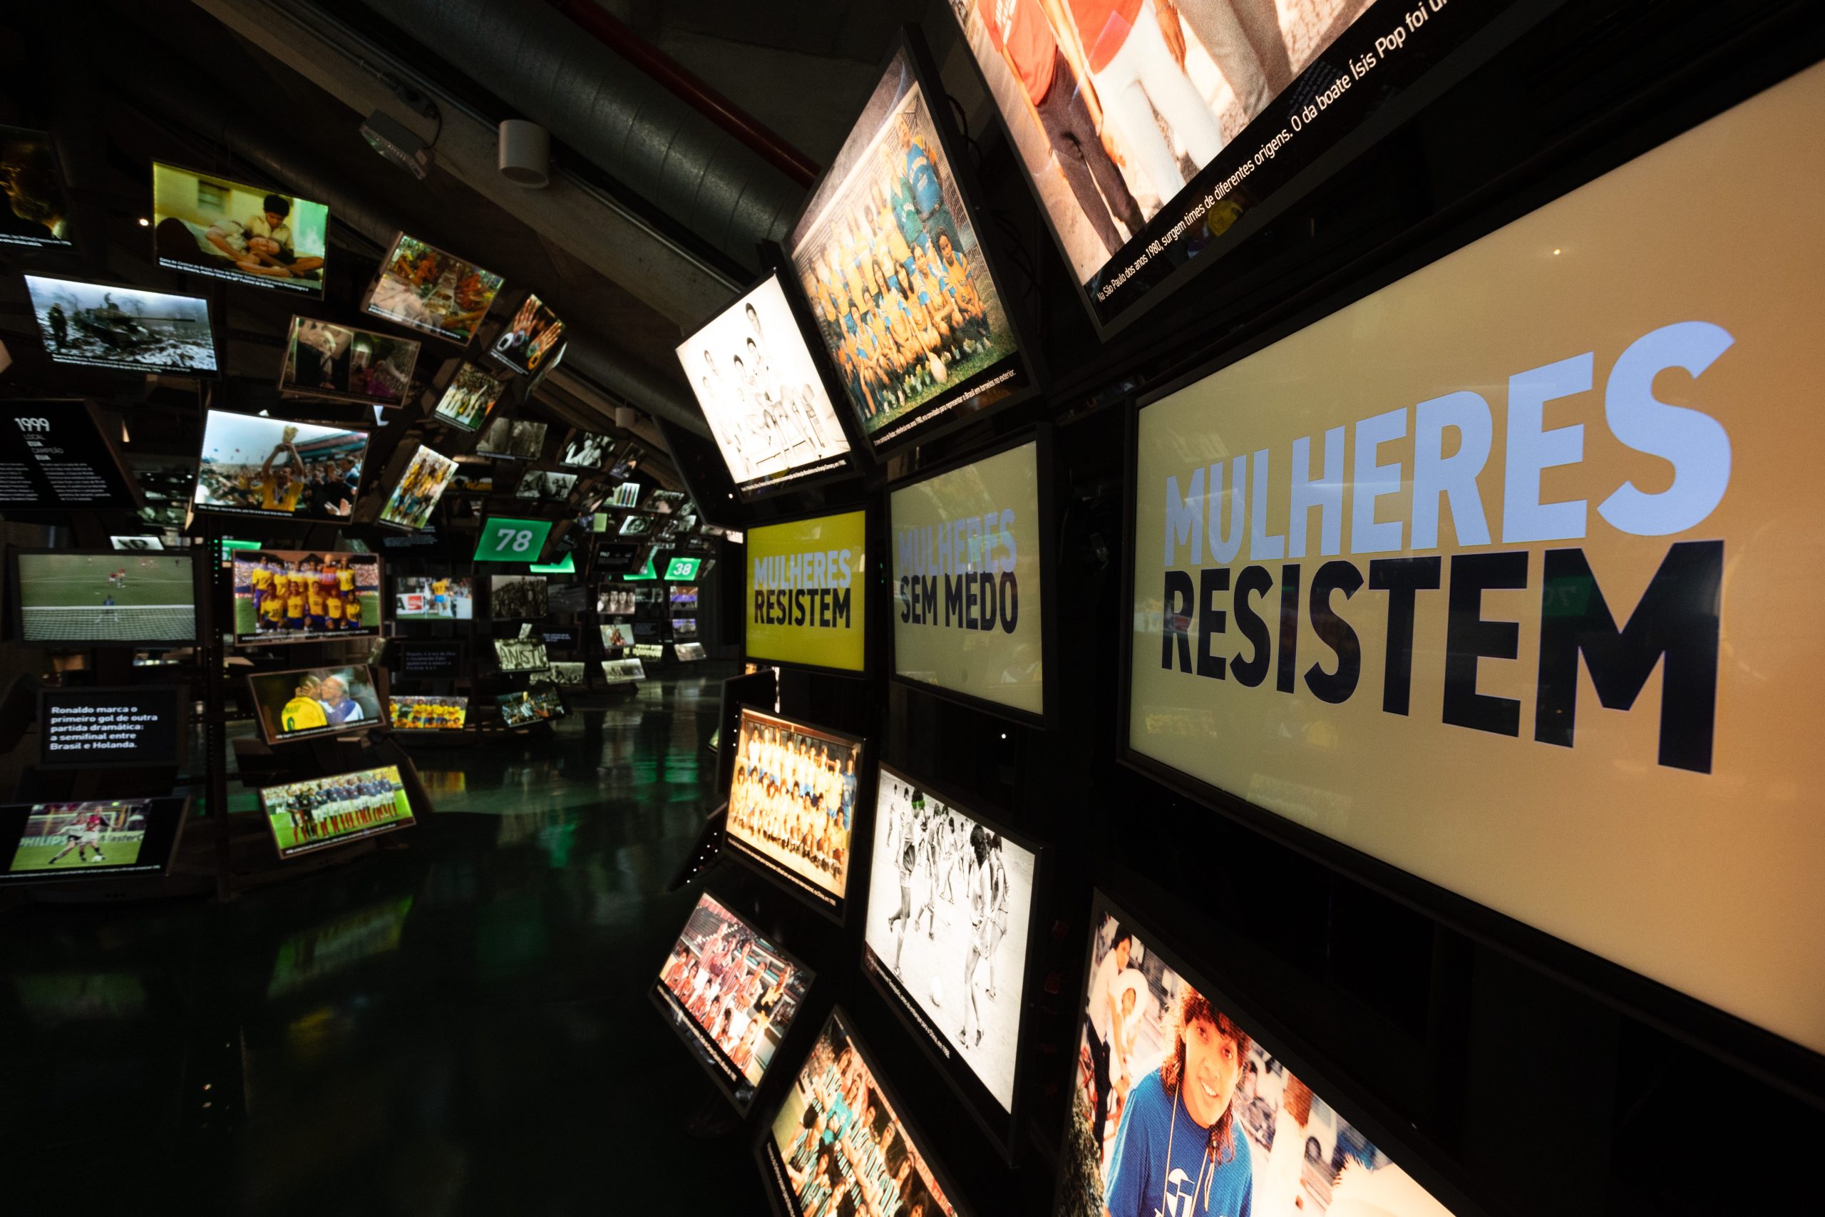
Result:
<svg viewBox="0 0 1825 1217"><path fill-rule="evenodd" d="M1091 316L1113 327L1511 7L964 0L951 15Z"/></svg>

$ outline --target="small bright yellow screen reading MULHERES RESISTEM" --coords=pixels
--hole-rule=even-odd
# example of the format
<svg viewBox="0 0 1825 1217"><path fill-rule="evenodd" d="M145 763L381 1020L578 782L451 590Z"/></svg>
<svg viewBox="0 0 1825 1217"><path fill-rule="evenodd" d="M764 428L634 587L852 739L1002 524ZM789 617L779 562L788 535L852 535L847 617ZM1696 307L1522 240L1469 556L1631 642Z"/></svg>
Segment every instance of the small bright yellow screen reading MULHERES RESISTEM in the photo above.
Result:
<svg viewBox="0 0 1825 1217"><path fill-rule="evenodd" d="M748 529L748 659L867 666L867 511Z"/></svg>

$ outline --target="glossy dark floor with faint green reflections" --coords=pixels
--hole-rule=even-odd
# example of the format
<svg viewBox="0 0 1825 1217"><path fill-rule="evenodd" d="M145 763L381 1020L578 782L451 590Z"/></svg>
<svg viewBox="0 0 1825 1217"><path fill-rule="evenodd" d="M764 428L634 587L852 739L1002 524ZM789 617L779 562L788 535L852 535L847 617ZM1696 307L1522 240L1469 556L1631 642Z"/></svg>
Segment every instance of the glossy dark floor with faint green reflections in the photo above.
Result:
<svg viewBox="0 0 1825 1217"><path fill-rule="evenodd" d="M301 881L4 914L0 1213L765 1212L646 998L723 675L422 752L438 814Z"/></svg>

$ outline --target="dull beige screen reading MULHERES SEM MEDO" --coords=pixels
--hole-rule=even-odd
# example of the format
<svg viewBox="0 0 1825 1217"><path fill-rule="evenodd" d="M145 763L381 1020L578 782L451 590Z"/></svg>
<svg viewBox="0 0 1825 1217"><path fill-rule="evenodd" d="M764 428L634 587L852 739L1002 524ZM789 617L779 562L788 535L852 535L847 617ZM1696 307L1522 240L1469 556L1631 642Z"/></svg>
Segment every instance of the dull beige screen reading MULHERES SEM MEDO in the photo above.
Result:
<svg viewBox="0 0 1825 1217"><path fill-rule="evenodd" d="M1038 505L1037 442L892 489L894 675L1044 713Z"/></svg>

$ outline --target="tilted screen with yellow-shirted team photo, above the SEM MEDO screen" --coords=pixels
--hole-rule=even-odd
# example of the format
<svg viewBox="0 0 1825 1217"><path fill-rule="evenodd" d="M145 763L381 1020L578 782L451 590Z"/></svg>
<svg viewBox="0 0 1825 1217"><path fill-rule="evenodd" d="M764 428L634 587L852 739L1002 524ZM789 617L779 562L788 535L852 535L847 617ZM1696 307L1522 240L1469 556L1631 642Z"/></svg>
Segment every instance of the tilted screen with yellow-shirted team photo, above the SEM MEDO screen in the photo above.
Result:
<svg viewBox="0 0 1825 1217"><path fill-rule="evenodd" d="M947 106L942 91L936 99ZM787 250L872 447L909 443L1029 387L931 99L903 51Z"/></svg>

